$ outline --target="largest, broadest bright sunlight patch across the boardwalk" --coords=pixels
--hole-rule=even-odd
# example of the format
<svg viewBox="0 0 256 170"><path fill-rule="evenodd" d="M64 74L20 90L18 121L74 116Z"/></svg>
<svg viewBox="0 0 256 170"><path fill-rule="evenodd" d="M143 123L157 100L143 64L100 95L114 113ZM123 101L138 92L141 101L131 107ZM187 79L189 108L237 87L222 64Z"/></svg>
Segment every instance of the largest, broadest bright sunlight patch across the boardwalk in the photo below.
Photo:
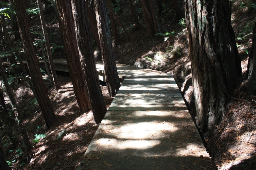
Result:
<svg viewBox="0 0 256 170"><path fill-rule="evenodd" d="M101 125L99 131L119 139L161 139L169 137L170 132L179 130L174 123L165 121L127 123L125 125L106 125L103 121Z"/></svg>

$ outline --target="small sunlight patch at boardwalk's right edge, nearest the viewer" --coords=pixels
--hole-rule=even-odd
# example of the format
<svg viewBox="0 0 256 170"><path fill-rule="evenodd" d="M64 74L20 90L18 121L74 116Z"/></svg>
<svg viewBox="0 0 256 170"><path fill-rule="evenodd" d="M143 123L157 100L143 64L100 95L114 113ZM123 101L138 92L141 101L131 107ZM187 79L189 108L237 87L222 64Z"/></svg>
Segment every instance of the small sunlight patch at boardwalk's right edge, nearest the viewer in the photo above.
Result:
<svg viewBox="0 0 256 170"><path fill-rule="evenodd" d="M203 144L202 146L199 146L195 143L187 143L186 148L179 148L177 149L177 152L175 153L175 156L185 157L185 156L196 156L200 157L203 155L203 157L209 157L209 154L206 152Z"/></svg>

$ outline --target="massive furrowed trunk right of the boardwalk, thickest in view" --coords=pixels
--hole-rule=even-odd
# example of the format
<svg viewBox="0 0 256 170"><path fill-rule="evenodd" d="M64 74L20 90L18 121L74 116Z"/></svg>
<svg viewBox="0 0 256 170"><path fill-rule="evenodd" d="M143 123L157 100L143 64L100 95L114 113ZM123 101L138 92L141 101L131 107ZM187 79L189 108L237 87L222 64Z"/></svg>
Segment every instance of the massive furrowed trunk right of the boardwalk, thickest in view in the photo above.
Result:
<svg viewBox="0 0 256 170"><path fill-rule="evenodd" d="M201 132L213 135L241 75L229 4L224 0L185 0L185 11L196 124Z"/></svg>

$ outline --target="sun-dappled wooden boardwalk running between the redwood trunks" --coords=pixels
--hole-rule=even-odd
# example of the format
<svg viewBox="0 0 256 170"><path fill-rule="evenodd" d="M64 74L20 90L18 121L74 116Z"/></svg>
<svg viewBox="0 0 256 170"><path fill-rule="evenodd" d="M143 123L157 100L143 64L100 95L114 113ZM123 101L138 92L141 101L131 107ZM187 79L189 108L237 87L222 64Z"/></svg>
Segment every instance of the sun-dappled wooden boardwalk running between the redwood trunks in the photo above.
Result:
<svg viewBox="0 0 256 170"><path fill-rule="evenodd" d="M125 79L77 170L216 169L173 76L124 64L117 70Z"/></svg>

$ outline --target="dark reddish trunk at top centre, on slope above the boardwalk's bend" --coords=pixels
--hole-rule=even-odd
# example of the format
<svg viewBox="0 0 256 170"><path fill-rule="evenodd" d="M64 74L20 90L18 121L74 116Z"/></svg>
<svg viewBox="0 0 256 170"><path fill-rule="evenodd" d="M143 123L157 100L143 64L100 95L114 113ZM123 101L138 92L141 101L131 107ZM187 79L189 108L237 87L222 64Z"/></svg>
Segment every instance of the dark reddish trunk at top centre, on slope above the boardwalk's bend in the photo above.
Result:
<svg viewBox="0 0 256 170"><path fill-rule="evenodd" d="M149 40L155 37L155 34L160 33L160 26L156 16L155 6L152 0L141 0L142 9L147 29Z"/></svg>

